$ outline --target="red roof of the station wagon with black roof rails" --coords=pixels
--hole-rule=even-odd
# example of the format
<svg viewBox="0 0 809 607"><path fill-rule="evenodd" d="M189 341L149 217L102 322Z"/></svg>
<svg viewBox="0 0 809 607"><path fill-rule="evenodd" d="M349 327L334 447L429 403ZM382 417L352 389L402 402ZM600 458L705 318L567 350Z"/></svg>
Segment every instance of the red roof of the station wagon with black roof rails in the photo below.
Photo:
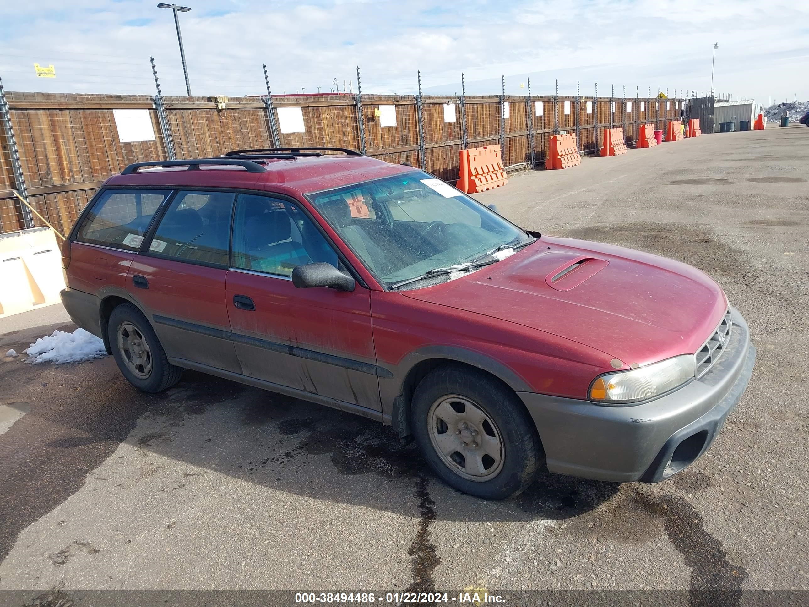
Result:
<svg viewBox="0 0 809 607"><path fill-rule="evenodd" d="M414 170L362 155L289 155L283 158L250 155L249 158L233 156L228 159L255 161L265 170L248 172L233 164L218 165L218 159L210 159L210 164L205 164L203 159L193 159L185 162L193 168L201 167L201 170L188 170L184 166L140 168L129 174L112 176L106 185L280 189L306 194Z"/></svg>

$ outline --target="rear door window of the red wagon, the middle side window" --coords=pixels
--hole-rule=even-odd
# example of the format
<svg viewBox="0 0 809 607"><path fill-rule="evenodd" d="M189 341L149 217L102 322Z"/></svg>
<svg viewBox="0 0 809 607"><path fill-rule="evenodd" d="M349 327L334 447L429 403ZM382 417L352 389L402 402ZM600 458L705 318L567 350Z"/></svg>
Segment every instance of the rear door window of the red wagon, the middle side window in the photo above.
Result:
<svg viewBox="0 0 809 607"><path fill-rule="evenodd" d="M160 219L149 252L227 266L234 193L179 192Z"/></svg>

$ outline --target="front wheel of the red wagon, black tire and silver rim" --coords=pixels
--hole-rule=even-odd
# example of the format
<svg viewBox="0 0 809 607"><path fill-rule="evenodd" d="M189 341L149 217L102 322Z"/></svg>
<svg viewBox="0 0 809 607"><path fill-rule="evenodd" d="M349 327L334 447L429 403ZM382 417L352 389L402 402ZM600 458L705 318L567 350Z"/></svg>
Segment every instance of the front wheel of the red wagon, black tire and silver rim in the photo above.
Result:
<svg viewBox="0 0 809 607"><path fill-rule="evenodd" d="M459 365L431 371L417 385L410 410L421 454L438 477L464 493L509 498L531 485L544 464L539 434L523 403L481 371Z"/></svg>

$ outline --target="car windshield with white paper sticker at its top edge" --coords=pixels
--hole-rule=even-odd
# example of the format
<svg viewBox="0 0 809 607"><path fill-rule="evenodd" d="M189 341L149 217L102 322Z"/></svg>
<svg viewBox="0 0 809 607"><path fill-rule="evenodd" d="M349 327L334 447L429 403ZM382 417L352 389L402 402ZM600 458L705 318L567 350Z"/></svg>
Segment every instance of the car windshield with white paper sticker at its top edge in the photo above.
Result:
<svg viewBox="0 0 809 607"><path fill-rule="evenodd" d="M309 194L363 263L388 285L485 256L530 238L489 208L426 172Z"/></svg>

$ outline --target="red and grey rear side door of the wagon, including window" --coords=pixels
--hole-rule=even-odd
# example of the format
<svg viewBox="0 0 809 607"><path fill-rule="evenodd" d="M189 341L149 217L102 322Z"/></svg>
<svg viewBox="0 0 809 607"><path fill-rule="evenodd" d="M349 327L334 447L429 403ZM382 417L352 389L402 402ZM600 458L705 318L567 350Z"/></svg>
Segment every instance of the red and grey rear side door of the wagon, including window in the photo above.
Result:
<svg viewBox="0 0 809 607"><path fill-rule="evenodd" d="M179 191L129 266L126 287L166 354L240 373L225 302L231 192Z"/></svg>

